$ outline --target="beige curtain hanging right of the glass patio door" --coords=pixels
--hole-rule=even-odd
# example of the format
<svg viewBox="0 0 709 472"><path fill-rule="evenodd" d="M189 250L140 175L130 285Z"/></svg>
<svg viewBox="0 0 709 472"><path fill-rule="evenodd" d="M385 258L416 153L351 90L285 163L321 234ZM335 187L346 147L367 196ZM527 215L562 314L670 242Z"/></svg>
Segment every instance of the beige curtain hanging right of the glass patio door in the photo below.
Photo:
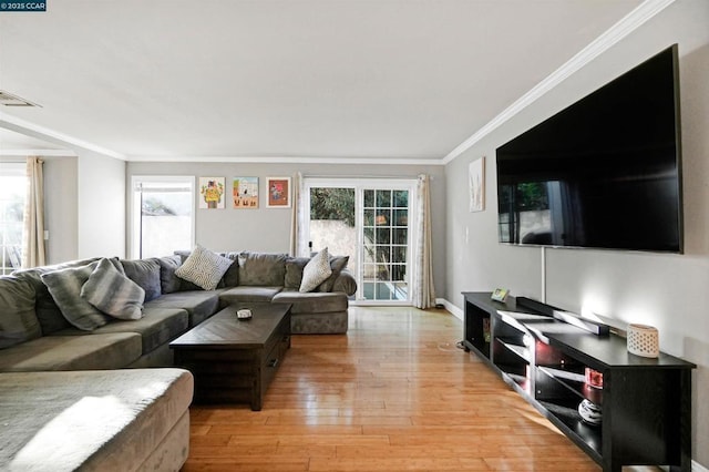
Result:
<svg viewBox="0 0 709 472"><path fill-rule="evenodd" d="M435 306L433 287L433 255L431 252L431 196L430 177L419 175L417 182L417 264L413 273L411 295L413 306L427 309Z"/></svg>

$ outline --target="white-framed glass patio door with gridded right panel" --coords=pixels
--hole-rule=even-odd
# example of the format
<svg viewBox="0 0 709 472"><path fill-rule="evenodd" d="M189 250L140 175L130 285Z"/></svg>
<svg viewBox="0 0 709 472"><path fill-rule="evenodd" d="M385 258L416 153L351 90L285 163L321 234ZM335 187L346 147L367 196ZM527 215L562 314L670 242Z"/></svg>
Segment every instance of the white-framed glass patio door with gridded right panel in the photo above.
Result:
<svg viewBox="0 0 709 472"><path fill-rule="evenodd" d="M415 181L304 181L302 232L311 252L349 256L360 304L411 302Z"/></svg>

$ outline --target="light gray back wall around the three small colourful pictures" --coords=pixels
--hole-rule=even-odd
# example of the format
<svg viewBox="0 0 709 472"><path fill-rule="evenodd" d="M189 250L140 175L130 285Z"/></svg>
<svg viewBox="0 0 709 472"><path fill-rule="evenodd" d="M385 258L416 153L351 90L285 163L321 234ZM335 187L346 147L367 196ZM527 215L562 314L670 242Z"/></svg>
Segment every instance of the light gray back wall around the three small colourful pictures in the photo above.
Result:
<svg viewBox="0 0 709 472"><path fill-rule="evenodd" d="M196 211L196 242L214 250L253 249L288 253L290 248L291 209L267 208L264 196L266 178L292 176L387 176L415 178L424 173L432 176L431 206L433 209L434 280L439 294L445 287L445 178L443 166L435 165L339 165L339 164L234 164L234 163L141 163L127 164L126 182L133 175L194 175L195 177L226 177L227 192L234 177L259 177L259 208L234 209L227 201L224 209ZM127 228L131 230L131 228ZM130 237L127 238L130 240Z"/></svg>

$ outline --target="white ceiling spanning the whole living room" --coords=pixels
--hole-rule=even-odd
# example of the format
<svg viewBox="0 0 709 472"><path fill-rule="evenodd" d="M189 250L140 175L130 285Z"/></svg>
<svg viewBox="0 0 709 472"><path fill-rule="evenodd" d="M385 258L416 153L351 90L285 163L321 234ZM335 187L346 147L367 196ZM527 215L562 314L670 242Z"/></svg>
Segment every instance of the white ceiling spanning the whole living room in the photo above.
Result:
<svg viewBox="0 0 709 472"><path fill-rule="evenodd" d="M12 130L0 152L23 145L19 132L129 161L440 163L641 3L62 0L3 12L0 90L40 106L0 110Z"/></svg>

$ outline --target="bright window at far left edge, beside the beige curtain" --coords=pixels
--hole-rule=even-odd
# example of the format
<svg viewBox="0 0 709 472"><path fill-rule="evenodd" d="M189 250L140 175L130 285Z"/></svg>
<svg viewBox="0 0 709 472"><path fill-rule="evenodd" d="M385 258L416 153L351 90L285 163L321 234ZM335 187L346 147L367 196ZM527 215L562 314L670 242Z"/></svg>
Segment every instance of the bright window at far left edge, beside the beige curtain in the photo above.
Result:
<svg viewBox="0 0 709 472"><path fill-rule="evenodd" d="M0 164L0 274L22 265L27 176L24 163Z"/></svg>

